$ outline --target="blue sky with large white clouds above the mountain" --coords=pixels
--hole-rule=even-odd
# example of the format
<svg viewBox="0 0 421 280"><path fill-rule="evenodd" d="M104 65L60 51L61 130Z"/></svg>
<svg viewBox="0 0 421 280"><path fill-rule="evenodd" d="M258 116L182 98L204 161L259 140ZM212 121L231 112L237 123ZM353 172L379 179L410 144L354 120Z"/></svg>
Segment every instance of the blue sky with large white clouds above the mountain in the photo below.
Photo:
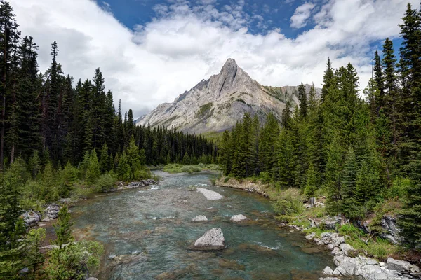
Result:
<svg viewBox="0 0 421 280"><path fill-rule="evenodd" d="M361 91L373 52L417 0L9 0L22 36L39 45L39 70L58 62L75 80L100 67L114 103L141 116L236 59L262 85L314 83L327 57L351 62ZM396 53L397 54L397 53Z"/></svg>

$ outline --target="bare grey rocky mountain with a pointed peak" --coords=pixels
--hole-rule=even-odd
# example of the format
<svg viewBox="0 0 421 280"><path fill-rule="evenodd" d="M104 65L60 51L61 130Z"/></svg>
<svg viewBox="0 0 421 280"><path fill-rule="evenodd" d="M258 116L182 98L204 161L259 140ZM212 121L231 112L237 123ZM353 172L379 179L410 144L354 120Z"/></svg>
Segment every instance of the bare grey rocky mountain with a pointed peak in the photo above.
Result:
<svg viewBox="0 0 421 280"><path fill-rule="evenodd" d="M310 85L305 85L307 93ZM244 113L265 120L269 112L281 118L288 100L298 104L298 86L267 87L227 59L220 73L180 94L173 103L160 104L136 125L177 127L183 132L220 132L232 128ZM320 94L321 90L317 89Z"/></svg>

